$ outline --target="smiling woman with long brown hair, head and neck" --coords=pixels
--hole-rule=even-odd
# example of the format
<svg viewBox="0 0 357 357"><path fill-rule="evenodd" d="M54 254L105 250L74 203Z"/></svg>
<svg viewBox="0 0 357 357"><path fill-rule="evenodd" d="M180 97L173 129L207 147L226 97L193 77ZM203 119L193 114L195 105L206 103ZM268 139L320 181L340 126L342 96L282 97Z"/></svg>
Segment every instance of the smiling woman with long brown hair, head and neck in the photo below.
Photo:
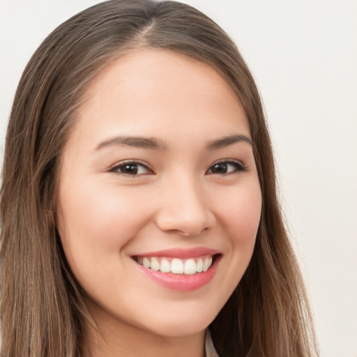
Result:
<svg viewBox="0 0 357 357"><path fill-rule="evenodd" d="M314 356L259 93L190 6L107 1L40 45L1 219L3 357Z"/></svg>

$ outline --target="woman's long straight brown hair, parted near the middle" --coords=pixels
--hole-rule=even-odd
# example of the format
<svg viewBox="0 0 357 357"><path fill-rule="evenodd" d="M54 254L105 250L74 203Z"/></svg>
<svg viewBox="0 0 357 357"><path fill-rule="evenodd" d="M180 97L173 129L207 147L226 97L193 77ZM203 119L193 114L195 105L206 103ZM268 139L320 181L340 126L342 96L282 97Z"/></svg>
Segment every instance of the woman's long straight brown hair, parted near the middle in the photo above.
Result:
<svg viewBox="0 0 357 357"><path fill-rule="evenodd" d="M56 233L61 150L83 93L135 48L204 61L226 79L250 122L263 205L252 261L211 323L222 357L317 354L301 273L284 228L259 93L229 36L183 3L113 0L61 24L26 66L8 124L1 189L1 357L79 356L90 319Z"/></svg>

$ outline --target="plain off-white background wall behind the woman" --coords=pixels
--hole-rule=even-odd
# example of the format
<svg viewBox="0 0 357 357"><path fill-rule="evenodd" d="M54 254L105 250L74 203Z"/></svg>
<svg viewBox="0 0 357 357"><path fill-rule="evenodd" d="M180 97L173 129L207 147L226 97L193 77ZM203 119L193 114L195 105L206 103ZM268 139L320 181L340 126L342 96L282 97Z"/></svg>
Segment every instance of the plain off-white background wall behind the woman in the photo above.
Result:
<svg viewBox="0 0 357 357"><path fill-rule="evenodd" d="M96 0L0 0L0 151L31 54ZM357 357L357 1L187 0L257 79L322 357Z"/></svg>

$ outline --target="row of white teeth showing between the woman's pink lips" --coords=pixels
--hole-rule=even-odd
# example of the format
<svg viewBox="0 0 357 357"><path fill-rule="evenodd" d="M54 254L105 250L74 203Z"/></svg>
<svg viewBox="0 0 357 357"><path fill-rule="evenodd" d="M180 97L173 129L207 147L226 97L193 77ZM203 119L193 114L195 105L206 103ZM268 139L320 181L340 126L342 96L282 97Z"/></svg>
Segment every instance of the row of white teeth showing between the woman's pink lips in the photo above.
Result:
<svg viewBox="0 0 357 357"><path fill-rule="evenodd" d="M172 273L177 275L195 275L204 273L211 268L215 255L203 255L201 257L179 259L169 257L132 257L137 264L151 271Z"/></svg>

